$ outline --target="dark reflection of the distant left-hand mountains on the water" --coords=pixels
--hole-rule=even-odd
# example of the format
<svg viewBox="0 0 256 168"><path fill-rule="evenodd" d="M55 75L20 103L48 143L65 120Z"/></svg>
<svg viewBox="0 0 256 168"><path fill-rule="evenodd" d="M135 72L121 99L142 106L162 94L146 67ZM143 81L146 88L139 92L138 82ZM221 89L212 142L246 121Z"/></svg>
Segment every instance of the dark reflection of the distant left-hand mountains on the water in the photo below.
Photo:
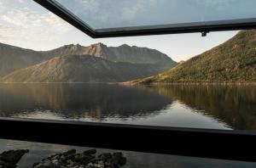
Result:
<svg viewBox="0 0 256 168"><path fill-rule="evenodd" d="M90 116L101 120L158 113L169 98L139 88L101 84L1 84L0 115L47 111L67 118Z"/></svg>

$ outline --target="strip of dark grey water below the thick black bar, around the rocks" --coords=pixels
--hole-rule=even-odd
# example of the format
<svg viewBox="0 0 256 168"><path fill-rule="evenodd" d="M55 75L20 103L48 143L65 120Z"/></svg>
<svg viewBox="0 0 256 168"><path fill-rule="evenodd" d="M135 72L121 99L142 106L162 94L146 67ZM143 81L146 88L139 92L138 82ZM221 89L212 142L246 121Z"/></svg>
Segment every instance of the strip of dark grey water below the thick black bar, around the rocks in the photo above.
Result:
<svg viewBox="0 0 256 168"><path fill-rule="evenodd" d="M68 162L63 161L64 162L63 163L61 162L61 157L59 159L52 159L53 158L52 157L49 159L50 161L44 160L44 159L49 158L49 156L52 156L55 154L61 155L61 153L67 152L68 150L71 150L71 149L76 149L76 154L79 155L79 154L82 154L84 151L93 149L93 148L84 148L84 147L49 144L49 143L20 142L20 141L0 139L0 154L3 153L3 151L9 151L14 149L15 150L29 149L29 152L24 154L24 156L21 158L21 160L17 164L19 168L26 168L26 167L32 167L33 164L38 162L41 164L44 163L48 165L49 165L49 162L52 164L58 163L60 165L61 164L67 165L70 163L70 161ZM98 157L100 154L106 154L106 153L113 154L116 152L121 152L123 154L123 157L125 157L126 161L123 161L124 165L120 166L124 168L128 168L128 167L169 168L171 166L172 168L181 168L181 167L183 168L193 168L193 167L251 168L252 167L253 168L256 166L256 163L253 163L253 162L243 162L243 161L233 161L233 160L212 160L212 159L184 157L184 156L177 156L177 155L165 155L165 154L146 154L146 153L138 153L138 152L131 152L131 151L115 151L115 150L103 149L103 148L96 148L96 157ZM89 163L81 164L81 160L75 160L75 157L72 157L72 154L69 154L67 156L71 158L69 160L72 160L74 164L77 164L78 162L79 162L79 165L82 165L82 166L90 164L90 161ZM55 157L55 158L58 158L58 157ZM63 158L65 159L65 157ZM102 160L98 160L98 162L101 162L101 161ZM97 167L100 167L100 166L97 166Z"/></svg>

